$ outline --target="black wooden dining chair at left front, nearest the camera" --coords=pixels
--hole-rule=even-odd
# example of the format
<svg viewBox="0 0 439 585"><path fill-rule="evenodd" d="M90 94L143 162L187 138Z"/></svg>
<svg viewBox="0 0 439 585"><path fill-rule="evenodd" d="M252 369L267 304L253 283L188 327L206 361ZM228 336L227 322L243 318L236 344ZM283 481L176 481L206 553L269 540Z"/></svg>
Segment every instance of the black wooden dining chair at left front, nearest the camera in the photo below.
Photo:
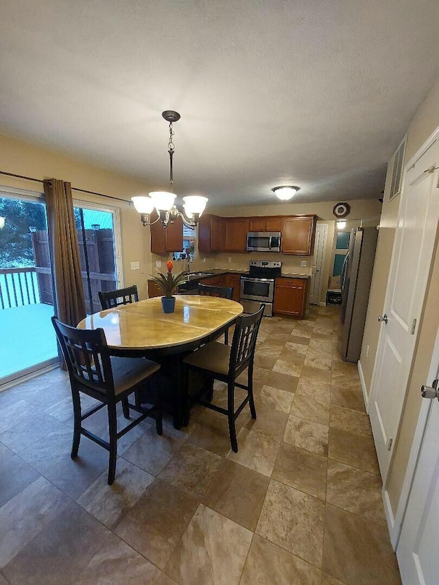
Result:
<svg viewBox="0 0 439 585"><path fill-rule="evenodd" d="M73 444L71 458L78 455L81 435L88 437L109 451L108 484L115 480L117 440L128 433L147 416L156 419L158 435L163 432L161 398L150 409L141 409L128 401L128 396L160 369L158 363L143 357L110 356L103 329L76 329L51 318L69 371L73 398ZM99 405L82 413L80 392L99 401ZM117 431L117 403L122 403L123 416L130 418L130 409L140 413L133 422ZM82 427L82 421L99 409L107 407L109 441Z"/></svg>

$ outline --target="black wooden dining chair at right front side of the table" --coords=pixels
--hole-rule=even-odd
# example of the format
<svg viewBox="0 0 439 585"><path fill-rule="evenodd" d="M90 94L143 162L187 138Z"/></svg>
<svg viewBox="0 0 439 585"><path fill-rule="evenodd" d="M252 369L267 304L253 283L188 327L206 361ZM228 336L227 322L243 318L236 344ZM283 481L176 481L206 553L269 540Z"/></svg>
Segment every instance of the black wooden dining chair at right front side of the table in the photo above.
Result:
<svg viewBox="0 0 439 585"><path fill-rule="evenodd" d="M265 305L261 303L259 311L252 315L241 315L237 318L235 331L231 346L210 342L200 349L185 357L185 396L186 412L185 422L189 422L189 408L191 402L196 402L209 408L225 414L228 418L228 430L230 433L230 444L233 451L237 453L238 443L236 438L235 420L241 413L242 409L248 403L250 405L250 414L256 418L256 409L254 408L253 399L253 363L254 349L261 324L263 309ZM219 407L203 397L211 392L211 387L205 387L197 396L189 398L189 372L191 368L202 371L211 379L226 382L227 384L227 408ZM241 384L236 381L237 377L247 370L247 384ZM235 409L235 386L247 390L247 396ZM209 397L209 396L208 396Z"/></svg>

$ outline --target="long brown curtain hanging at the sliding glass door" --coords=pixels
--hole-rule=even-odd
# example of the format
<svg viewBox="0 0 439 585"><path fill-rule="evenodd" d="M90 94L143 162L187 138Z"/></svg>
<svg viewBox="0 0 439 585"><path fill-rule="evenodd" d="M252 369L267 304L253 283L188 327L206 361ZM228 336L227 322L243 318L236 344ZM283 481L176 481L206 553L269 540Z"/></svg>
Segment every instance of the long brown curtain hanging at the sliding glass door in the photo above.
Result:
<svg viewBox="0 0 439 585"><path fill-rule="evenodd" d="M86 311L71 184L58 179L46 180L44 191L55 314L60 321L75 327L84 319Z"/></svg>

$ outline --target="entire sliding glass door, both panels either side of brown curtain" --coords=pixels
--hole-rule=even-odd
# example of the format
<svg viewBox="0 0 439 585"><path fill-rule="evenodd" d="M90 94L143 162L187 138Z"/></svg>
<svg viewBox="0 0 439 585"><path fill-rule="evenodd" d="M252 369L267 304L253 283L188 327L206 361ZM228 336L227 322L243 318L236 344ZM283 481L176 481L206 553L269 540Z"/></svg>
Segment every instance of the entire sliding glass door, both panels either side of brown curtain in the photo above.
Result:
<svg viewBox="0 0 439 585"><path fill-rule="evenodd" d="M45 200L0 191L0 386L58 363ZM1 225L2 222L0 222ZM118 288L120 239L115 208L75 204L87 313L99 290Z"/></svg>

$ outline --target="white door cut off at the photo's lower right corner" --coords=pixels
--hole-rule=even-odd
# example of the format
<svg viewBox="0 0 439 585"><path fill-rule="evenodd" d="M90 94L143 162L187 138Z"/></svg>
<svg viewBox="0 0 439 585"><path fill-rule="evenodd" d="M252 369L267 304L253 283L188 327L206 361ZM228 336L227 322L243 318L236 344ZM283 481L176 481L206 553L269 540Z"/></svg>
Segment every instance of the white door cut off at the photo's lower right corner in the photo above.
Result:
<svg viewBox="0 0 439 585"><path fill-rule="evenodd" d="M439 377L439 335L427 385ZM412 489L401 529L396 557L401 579L407 585L439 582L439 401L428 401L420 411L416 433L423 436Z"/></svg>

